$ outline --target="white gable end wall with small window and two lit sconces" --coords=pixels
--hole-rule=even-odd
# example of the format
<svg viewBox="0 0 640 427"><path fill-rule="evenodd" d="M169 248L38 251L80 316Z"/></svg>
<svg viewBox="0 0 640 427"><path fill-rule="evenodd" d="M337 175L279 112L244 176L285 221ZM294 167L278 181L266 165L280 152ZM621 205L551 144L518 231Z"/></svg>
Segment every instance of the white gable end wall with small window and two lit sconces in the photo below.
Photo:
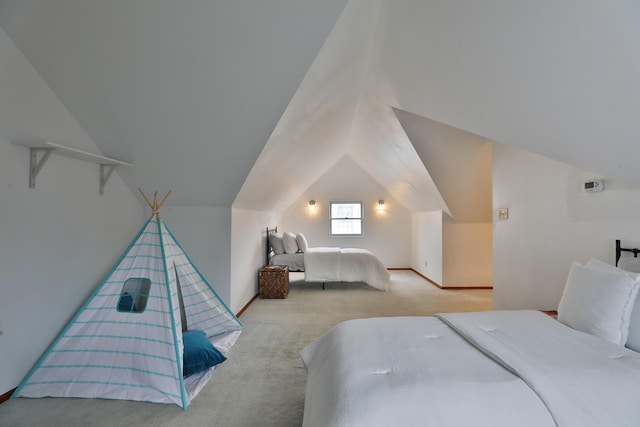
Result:
<svg viewBox="0 0 640 427"><path fill-rule="evenodd" d="M292 178L295 179L295 178ZM315 200L315 210L309 200ZM384 211L377 210L378 200ZM362 236L329 235L329 203L362 201ZM348 156L343 157L290 206L281 210L278 231L302 232L309 246L356 247L375 253L387 268L411 264L411 214ZM273 224L276 225L276 224Z"/></svg>

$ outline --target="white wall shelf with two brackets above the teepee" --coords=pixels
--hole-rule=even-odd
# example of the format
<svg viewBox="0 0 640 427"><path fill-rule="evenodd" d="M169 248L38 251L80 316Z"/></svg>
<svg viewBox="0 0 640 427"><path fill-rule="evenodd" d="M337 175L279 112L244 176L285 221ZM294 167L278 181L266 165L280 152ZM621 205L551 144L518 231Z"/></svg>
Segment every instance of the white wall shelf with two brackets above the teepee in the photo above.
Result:
<svg viewBox="0 0 640 427"><path fill-rule="evenodd" d="M123 162L122 160L112 159L73 147L67 147L66 145L58 144L57 142L21 140L13 141L13 144L21 147L27 147L31 152L31 156L29 158L29 188L35 188L36 176L51 153L99 164L100 194L104 194L104 186L116 166L133 166L132 163ZM38 154L42 154L40 159L38 159Z"/></svg>

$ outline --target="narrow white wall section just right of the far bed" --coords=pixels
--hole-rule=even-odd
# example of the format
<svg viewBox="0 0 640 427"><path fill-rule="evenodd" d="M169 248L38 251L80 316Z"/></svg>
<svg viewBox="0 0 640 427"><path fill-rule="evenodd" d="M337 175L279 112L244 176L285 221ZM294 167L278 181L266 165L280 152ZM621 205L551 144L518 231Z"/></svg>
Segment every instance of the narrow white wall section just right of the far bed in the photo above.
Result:
<svg viewBox="0 0 640 427"><path fill-rule="evenodd" d="M411 217L411 268L442 284L443 212L419 212Z"/></svg>

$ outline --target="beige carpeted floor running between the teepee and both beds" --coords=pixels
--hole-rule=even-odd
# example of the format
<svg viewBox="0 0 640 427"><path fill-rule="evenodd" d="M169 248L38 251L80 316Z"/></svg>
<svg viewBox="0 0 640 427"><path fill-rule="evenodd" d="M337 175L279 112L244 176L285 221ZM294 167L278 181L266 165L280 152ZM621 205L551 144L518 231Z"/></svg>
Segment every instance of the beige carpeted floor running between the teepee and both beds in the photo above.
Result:
<svg viewBox="0 0 640 427"><path fill-rule="evenodd" d="M12 399L0 426L293 427L302 423L305 371L300 350L347 319L428 316L492 308L491 290L445 291L408 270L391 272L389 292L364 284L304 283L291 273L287 299L257 299L229 359L191 402L176 405L100 399Z"/></svg>

